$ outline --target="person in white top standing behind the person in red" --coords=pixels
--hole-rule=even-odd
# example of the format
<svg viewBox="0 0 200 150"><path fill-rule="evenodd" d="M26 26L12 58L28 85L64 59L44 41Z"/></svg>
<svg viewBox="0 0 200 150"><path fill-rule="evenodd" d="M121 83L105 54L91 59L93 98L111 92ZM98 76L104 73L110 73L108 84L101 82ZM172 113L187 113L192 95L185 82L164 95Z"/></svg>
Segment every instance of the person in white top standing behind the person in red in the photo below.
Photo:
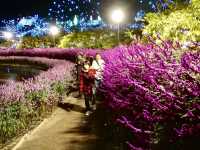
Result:
<svg viewBox="0 0 200 150"><path fill-rule="evenodd" d="M94 80L94 86L92 88L93 109L96 109L96 94L97 94L97 89L99 88L100 83L103 80L104 66L105 66L105 61L102 59L101 55L99 53L97 53L96 57L95 57L95 60L93 60L92 66L91 66L91 68L96 71L95 80Z"/></svg>

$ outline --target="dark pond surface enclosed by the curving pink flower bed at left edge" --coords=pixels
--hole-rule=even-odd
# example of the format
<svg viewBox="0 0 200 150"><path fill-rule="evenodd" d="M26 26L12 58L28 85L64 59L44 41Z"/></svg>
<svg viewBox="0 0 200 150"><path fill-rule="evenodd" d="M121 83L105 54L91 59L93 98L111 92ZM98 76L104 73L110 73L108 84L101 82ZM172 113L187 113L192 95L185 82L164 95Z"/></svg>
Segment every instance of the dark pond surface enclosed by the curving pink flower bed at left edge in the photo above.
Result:
<svg viewBox="0 0 200 150"><path fill-rule="evenodd" d="M0 60L0 84L7 81L23 81L48 70L46 64L27 60Z"/></svg>

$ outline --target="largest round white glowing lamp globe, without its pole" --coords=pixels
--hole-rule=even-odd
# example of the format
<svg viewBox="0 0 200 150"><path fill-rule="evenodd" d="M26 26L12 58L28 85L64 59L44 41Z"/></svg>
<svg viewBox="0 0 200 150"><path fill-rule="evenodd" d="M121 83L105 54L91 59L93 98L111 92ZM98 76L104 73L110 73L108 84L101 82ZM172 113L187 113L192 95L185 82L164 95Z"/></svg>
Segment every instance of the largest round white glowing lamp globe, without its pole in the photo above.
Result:
<svg viewBox="0 0 200 150"><path fill-rule="evenodd" d="M114 23L121 23L124 20L124 12L121 9L113 10L111 13L111 19Z"/></svg>

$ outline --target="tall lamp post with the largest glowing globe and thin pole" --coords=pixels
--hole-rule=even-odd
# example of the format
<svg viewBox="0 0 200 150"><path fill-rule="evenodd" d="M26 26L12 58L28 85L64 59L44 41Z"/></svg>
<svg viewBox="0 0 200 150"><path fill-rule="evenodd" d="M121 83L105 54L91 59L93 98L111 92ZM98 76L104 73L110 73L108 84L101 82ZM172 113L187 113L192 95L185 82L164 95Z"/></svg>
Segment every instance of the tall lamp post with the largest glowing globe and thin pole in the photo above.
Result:
<svg viewBox="0 0 200 150"><path fill-rule="evenodd" d="M117 39L120 41L120 23L124 20L124 12L121 9L115 9L111 13L112 21L117 24Z"/></svg>

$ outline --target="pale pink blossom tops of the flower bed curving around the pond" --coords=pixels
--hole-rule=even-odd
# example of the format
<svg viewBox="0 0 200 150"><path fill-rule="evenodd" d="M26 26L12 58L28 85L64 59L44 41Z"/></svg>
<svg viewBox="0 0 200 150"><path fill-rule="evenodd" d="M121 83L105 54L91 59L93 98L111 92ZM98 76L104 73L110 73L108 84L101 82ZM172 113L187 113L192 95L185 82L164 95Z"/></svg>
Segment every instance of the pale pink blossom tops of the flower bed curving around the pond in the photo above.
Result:
<svg viewBox="0 0 200 150"><path fill-rule="evenodd" d="M10 82L0 86L0 104L12 101L24 100L24 95L28 91L40 91L45 89L51 92L51 85L58 81L70 81L73 63L64 60L50 60L47 58L27 58L27 57L6 57L1 59L27 59L45 63L51 68L46 72L41 72L38 76L25 80L24 82Z"/></svg>

